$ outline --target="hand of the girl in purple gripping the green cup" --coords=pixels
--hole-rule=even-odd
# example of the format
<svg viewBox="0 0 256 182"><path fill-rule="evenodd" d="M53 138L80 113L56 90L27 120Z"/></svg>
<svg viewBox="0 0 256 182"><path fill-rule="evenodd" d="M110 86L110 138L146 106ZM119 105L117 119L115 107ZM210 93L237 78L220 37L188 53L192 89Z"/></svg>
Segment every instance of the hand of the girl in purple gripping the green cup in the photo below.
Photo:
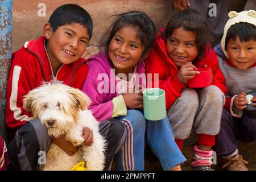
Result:
<svg viewBox="0 0 256 182"><path fill-rule="evenodd" d="M142 109L143 108L143 96L141 85L133 89L133 92L123 93L123 100L125 100L125 105L128 109Z"/></svg>

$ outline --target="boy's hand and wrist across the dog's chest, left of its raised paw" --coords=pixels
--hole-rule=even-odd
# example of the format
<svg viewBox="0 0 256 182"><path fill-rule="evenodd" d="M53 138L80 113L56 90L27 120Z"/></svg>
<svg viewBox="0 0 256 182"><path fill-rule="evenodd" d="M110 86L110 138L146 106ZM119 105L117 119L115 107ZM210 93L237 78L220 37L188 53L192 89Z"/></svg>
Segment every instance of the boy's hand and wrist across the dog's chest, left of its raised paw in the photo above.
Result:
<svg viewBox="0 0 256 182"><path fill-rule="evenodd" d="M75 153L79 150L79 147L74 147L71 142L65 140L65 135L61 135L58 138L53 137L52 141L63 151L65 151L69 156L75 155Z"/></svg>

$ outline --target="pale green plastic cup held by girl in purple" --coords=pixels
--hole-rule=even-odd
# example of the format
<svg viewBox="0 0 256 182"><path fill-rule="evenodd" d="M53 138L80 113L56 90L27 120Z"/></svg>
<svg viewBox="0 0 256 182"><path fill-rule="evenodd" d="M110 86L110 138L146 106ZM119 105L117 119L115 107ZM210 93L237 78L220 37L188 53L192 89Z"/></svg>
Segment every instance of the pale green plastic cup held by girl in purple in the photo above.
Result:
<svg viewBox="0 0 256 182"><path fill-rule="evenodd" d="M151 88L143 92L144 117L158 121L166 117L166 94L163 89Z"/></svg>

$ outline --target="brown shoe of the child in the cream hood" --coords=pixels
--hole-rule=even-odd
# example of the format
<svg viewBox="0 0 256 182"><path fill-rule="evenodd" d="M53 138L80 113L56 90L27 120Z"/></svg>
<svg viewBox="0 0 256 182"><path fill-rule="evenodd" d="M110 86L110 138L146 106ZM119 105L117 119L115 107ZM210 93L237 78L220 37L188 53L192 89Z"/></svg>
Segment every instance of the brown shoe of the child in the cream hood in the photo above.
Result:
<svg viewBox="0 0 256 182"><path fill-rule="evenodd" d="M242 155L238 155L236 158L226 159L227 163L222 168L228 167L228 171L248 171L245 164L249 164L246 160L243 160Z"/></svg>

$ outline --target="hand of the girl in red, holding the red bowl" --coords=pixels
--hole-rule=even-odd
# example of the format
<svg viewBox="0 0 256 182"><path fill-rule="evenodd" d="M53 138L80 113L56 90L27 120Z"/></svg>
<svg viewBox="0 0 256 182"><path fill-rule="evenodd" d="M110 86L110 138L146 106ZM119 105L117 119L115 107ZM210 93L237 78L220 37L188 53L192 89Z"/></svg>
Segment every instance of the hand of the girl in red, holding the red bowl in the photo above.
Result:
<svg viewBox="0 0 256 182"><path fill-rule="evenodd" d="M200 72L197 71L195 65L193 65L191 62L188 62L180 67L180 71L177 74L177 77L179 78L180 82L185 85L187 84L188 80L199 74Z"/></svg>

